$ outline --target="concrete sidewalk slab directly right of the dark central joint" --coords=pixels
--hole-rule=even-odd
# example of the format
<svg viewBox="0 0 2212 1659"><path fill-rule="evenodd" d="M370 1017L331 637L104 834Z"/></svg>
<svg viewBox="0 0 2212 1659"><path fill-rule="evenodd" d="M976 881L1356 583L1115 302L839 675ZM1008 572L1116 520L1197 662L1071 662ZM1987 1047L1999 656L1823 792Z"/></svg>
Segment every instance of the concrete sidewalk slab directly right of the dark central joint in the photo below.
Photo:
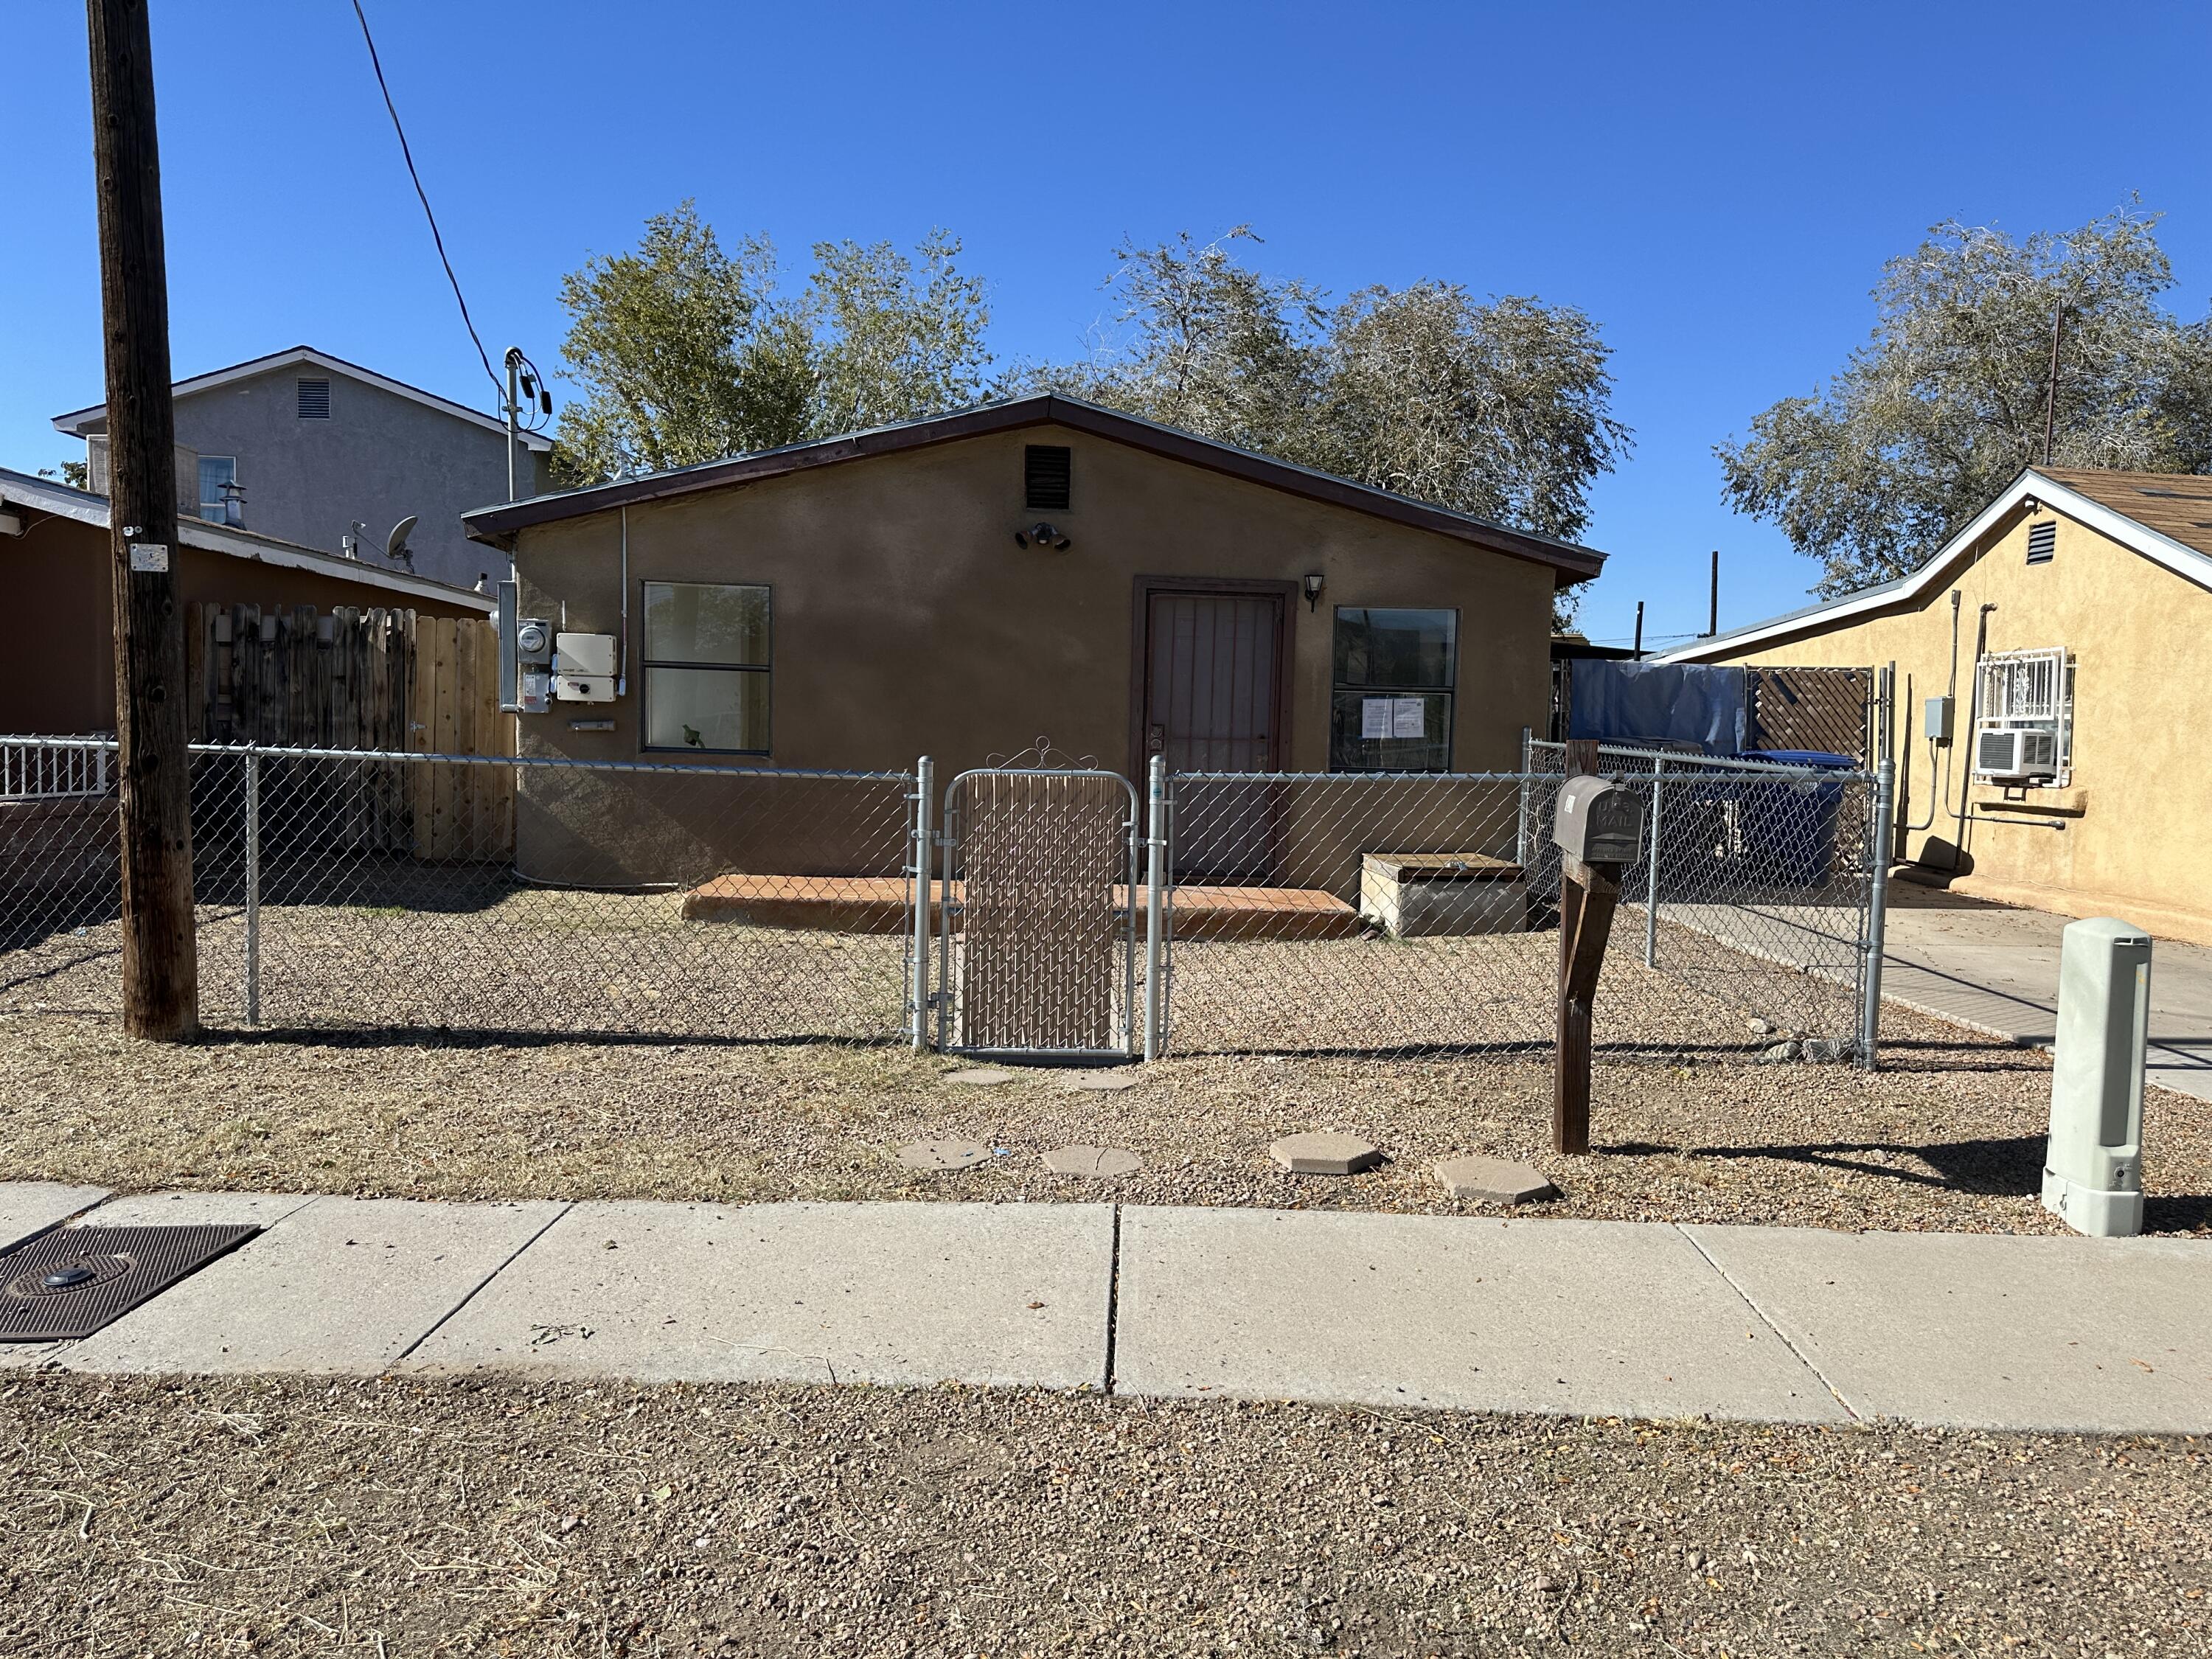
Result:
<svg viewBox="0 0 2212 1659"><path fill-rule="evenodd" d="M1674 1228L1121 1212L1121 1394L1838 1422Z"/></svg>

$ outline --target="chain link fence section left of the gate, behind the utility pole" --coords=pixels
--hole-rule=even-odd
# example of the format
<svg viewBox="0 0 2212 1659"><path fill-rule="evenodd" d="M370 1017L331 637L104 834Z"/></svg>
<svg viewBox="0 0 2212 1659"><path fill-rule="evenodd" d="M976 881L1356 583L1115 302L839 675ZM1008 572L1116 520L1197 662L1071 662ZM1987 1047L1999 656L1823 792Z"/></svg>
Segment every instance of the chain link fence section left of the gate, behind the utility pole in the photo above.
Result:
<svg viewBox="0 0 2212 1659"><path fill-rule="evenodd" d="M905 772L195 745L201 1018L898 1040L914 794ZM0 801L0 1011L117 1013L117 916L111 792Z"/></svg>

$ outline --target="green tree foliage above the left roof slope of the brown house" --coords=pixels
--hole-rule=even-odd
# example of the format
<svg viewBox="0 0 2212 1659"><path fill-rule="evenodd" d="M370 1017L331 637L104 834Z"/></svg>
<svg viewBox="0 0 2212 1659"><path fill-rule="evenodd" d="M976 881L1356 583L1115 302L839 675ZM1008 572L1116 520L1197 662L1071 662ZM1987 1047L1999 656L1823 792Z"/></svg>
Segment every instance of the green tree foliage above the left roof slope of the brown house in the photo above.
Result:
<svg viewBox="0 0 2212 1659"><path fill-rule="evenodd" d="M562 279L562 356L584 389L560 420L564 473L688 467L973 403L989 312L958 254L942 230L911 257L825 241L792 294L765 237L726 252L695 204L655 215L635 250Z"/></svg>

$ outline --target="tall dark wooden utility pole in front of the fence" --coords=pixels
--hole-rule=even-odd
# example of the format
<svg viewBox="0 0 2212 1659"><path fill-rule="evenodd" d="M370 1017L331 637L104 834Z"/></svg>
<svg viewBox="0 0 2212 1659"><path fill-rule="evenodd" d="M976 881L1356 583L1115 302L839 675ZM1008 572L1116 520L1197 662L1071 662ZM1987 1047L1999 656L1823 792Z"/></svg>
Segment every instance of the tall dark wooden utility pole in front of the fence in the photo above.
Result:
<svg viewBox="0 0 2212 1659"><path fill-rule="evenodd" d="M108 367L124 1031L175 1042L199 1029L199 956L153 38L146 0L86 0L84 9L93 46L100 316Z"/></svg>

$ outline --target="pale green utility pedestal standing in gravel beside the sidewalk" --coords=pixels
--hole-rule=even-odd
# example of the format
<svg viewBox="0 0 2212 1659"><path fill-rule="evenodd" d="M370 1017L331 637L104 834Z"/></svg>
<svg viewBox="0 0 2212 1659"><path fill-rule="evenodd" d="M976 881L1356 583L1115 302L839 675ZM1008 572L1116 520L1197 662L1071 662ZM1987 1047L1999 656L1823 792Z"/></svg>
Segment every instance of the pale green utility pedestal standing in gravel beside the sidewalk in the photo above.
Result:
<svg viewBox="0 0 2212 1659"><path fill-rule="evenodd" d="M2150 936L2099 916L2062 940L2044 1208L2075 1232L2128 1239L2143 1230Z"/></svg>

